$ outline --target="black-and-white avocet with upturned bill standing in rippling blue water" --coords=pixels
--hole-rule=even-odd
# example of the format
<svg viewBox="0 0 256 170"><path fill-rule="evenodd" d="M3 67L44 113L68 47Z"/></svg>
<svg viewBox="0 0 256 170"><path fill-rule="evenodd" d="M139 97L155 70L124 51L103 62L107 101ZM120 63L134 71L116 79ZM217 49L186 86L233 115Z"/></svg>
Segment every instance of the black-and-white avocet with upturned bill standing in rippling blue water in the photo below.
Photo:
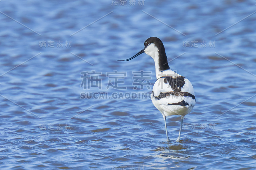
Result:
<svg viewBox="0 0 256 170"><path fill-rule="evenodd" d="M170 69L164 44L157 37L148 38L144 42L144 49L140 50L136 55L119 61L132 60L144 52L155 61L156 82L153 86L151 100L164 117L167 142L170 139L168 137L166 116L181 116L179 137L176 140L176 142L179 142L184 116L191 112L196 104L193 86L187 78L180 76Z"/></svg>

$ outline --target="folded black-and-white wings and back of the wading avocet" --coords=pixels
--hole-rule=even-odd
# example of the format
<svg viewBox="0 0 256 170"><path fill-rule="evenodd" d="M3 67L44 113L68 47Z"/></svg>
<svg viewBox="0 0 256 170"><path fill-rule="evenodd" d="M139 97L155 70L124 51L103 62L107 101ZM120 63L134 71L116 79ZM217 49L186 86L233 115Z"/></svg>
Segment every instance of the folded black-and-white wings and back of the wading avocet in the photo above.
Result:
<svg viewBox="0 0 256 170"><path fill-rule="evenodd" d="M171 112L170 115L182 115L183 112L188 114L196 104L193 86L183 76L158 78L152 90L152 97L153 104L158 106L158 109L161 107L164 112Z"/></svg>

